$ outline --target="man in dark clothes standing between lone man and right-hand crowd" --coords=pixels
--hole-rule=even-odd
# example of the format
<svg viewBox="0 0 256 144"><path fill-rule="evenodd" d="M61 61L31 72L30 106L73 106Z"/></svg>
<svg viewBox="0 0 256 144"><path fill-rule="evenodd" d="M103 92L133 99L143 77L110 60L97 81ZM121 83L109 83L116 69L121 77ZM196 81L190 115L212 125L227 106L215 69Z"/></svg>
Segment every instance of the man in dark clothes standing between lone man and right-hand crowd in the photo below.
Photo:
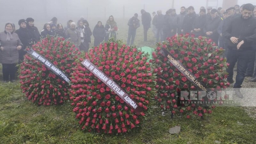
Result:
<svg viewBox="0 0 256 144"><path fill-rule="evenodd" d="M145 10L141 10L141 22L144 29L144 42L148 40L148 29L151 25L151 15L149 12L146 12Z"/></svg>

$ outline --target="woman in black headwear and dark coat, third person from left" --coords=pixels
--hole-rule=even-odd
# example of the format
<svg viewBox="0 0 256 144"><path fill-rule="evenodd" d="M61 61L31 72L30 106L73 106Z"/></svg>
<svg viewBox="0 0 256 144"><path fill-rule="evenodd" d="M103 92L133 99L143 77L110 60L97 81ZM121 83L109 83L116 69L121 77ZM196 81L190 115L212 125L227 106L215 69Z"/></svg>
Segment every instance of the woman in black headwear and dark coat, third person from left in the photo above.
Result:
<svg viewBox="0 0 256 144"><path fill-rule="evenodd" d="M37 42L40 40L40 33L38 31L38 29L34 26L34 19L33 18L27 18L26 19L27 23L28 23L28 32L29 35L33 36L33 42Z"/></svg>

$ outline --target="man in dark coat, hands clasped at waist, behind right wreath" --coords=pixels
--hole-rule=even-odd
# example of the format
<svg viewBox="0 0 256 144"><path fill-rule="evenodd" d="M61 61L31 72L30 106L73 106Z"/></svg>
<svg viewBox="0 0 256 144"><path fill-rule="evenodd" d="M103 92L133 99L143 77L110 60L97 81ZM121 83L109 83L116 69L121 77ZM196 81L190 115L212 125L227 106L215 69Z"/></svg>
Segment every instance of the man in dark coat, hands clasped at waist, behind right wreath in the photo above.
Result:
<svg viewBox="0 0 256 144"><path fill-rule="evenodd" d="M218 27L220 25L221 19L217 15L218 10L212 9L211 10L211 18L206 18L206 23L204 26L204 33L205 36L211 38L214 43L218 45L219 34L218 34Z"/></svg>

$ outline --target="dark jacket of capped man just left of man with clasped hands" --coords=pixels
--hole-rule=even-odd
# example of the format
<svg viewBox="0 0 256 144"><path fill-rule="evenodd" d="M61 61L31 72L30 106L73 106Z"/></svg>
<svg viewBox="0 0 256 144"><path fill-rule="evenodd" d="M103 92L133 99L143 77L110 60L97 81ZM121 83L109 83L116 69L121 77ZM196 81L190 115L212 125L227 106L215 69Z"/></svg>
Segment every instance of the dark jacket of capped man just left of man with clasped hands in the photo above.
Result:
<svg viewBox="0 0 256 144"><path fill-rule="evenodd" d="M195 28L196 29L198 29L198 28L201 29L201 31L198 31L198 32L194 31L193 32L193 34L195 34L196 37L205 35L205 33L204 33L205 22L206 22L206 15L196 17L196 20L194 21L192 30L194 31Z"/></svg>

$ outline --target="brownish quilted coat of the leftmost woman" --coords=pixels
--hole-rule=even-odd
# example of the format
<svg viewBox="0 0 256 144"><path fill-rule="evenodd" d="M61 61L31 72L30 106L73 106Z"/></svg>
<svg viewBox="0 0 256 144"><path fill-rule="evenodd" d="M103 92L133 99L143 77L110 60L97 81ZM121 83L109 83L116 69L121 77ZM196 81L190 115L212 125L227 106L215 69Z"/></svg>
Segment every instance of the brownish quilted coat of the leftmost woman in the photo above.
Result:
<svg viewBox="0 0 256 144"><path fill-rule="evenodd" d="M10 41L6 41L7 33L6 31L0 33L0 43L4 47L4 51L0 50L0 62L2 64L12 64L17 63L19 60L19 51L17 46L23 46L19 36L12 32L12 37Z"/></svg>

